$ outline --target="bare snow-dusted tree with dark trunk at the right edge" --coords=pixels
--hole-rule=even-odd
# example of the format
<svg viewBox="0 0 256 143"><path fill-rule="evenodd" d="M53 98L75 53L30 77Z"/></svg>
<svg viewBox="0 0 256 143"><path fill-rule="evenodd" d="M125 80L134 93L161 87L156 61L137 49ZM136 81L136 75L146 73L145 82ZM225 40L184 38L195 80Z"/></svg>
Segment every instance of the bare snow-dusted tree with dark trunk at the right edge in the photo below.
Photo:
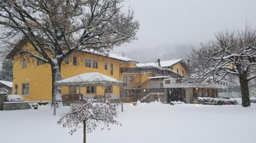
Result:
<svg viewBox="0 0 256 143"><path fill-rule="evenodd" d="M214 40L201 44L190 55L190 78L194 82L205 79L222 80L232 74L239 78L242 105L250 106L248 82L255 78L256 29L246 25L245 30L218 32Z"/></svg>

